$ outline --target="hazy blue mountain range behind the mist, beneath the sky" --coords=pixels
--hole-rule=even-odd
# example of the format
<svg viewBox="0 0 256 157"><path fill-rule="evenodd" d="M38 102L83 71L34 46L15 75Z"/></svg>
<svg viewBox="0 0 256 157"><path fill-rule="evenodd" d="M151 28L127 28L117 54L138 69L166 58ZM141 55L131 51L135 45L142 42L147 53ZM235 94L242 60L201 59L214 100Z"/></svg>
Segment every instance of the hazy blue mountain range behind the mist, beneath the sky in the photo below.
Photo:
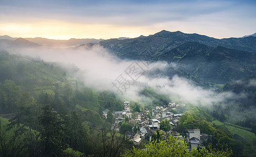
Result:
<svg viewBox="0 0 256 157"><path fill-rule="evenodd" d="M183 76L200 85L225 84L256 73L256 37L216 39L196 33L162 30L150 36L119 39L69 39L0 37L0 47L76 46L107 49L120 59L175 63L157 75ZM79 45L79 46L77 46Z"/></svg>

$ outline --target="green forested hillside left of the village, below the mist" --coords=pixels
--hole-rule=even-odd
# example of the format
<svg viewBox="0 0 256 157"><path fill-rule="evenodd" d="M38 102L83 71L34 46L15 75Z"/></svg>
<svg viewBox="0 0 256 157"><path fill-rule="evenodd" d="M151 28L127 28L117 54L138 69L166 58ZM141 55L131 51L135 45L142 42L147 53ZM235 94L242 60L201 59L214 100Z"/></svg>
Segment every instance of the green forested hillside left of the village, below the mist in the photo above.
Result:
<svg viewBox="0 0 256 157"><path fill-rule="evenodd" d="M101 156L100 130L111 127L102 117L101 91L55 63L1 51L0 65L0 114L10 118L0 117L0 156ZM122 108L114 101L109 109Z"/></svg>

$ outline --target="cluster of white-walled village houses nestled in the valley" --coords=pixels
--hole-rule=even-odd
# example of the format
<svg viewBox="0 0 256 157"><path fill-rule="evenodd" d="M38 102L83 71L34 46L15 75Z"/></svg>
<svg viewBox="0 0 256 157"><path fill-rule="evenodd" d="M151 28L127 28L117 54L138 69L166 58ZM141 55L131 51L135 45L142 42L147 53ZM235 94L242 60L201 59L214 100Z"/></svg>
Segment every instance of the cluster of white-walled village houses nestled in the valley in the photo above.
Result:
<svg viewBox="0 0 256 157"><path fill-rule="evenodd" d="M206 133L201 133L200 129L188 129L185 136L180 135L179 132L175 131L174 128L178 126L179 119L182 114L174 114L170 110L175 109L179 105L184 104L175 104L169 103L165 107L156 106L154 109L146 110L143 112L134 112L132 113L130 102L124 102L124 108L122 111L113 111L111 112L114 117L114 124L112 124L112 130L120 131L122 121L129 119L127 121L131 126L132 130L135 132L126 131L125 135L133 141L135 147L139 147L144 140L151 141L155 131L161 131L164 134L164 138L167 138L169 135L178 138L179 140L185 140L187 145L187 150L190 151L193 148L202 148L203 143L208 140L211 136ZM103 111L105 118L110 113L109 109ZM148 118L150 114L151 118ZM132 116L133 115L133 116ZM170 124L170 129L168 131L161 130L161 121L168 120Z"/></svg>

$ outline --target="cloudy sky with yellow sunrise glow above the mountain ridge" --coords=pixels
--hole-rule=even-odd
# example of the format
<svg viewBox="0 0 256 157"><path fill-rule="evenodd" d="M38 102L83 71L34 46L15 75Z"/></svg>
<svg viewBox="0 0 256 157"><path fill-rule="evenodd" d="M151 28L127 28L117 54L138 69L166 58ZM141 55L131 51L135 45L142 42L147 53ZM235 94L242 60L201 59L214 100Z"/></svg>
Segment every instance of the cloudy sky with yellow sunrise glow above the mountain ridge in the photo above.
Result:
<svg viewBox="0 0 256 157"><path fill-rule="evenodd" d="M48 39L148 36L161 30L214 38L256 32L256 1L0 0L0 35Z"/></svg>

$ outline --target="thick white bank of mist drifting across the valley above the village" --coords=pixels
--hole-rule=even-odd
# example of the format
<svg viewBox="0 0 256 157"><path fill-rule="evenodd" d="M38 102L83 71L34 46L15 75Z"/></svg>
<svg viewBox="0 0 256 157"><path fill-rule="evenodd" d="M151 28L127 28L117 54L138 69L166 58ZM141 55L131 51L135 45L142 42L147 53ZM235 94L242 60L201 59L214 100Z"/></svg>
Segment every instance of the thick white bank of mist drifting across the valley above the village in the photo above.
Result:
<svg viewBox="0 0 256 157"><path fill-rule="evenodd" d="M80 71L73 77L83 78L83 82L87 86L109 90L127 99L145 100L145 97L141 97L139 93L146 86L154 88L157 93L167 95L170 100L175 98L179 102L189 102L194 105L200 103L210 106L214 103L224 103L230 99L246 97L244 94L237 95L231 92L216 93L177 75L172 78L154 75L152 71L175 69L179 65L160 61L148 63L146 61L120 60L97 44L79 49L26 48L12 51L12 53L16 52L31 57L40 57L47 62L59 62L66 67L74 64ZM256 81L251 80L250 85L256 85ZM150 98L145 101L151 102Z"/></svg>

